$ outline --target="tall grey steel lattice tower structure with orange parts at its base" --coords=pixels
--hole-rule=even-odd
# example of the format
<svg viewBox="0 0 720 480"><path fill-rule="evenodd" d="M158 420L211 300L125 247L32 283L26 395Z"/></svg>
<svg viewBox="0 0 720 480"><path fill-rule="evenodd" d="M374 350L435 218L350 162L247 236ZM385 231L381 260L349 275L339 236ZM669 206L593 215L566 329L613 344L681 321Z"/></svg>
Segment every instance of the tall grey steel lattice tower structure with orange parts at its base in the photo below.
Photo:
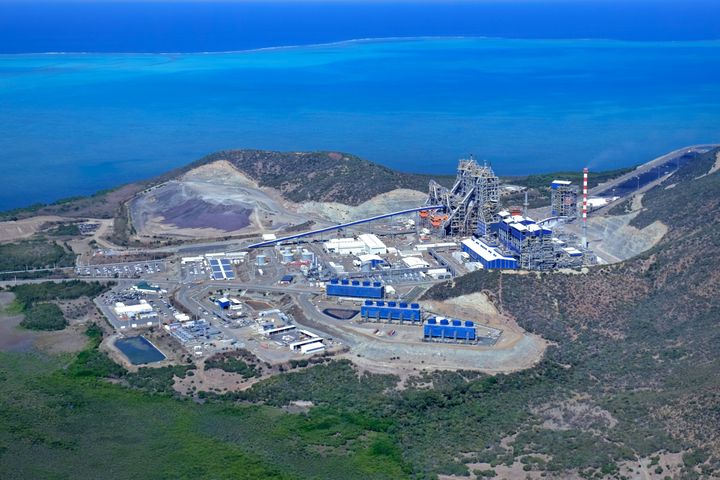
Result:
<svg viewBox="0 0 720 480"><path fill-rule="evenodd" d="M479 165L474 159L460 160L457 178L448 189L435 181L430 182L426 205L443 205L444 211L421 218L429 219L430 226L442 229L448 236L466 236L476 232L479 225L497 221L500 201L499 179L488 165Z"/></svg>

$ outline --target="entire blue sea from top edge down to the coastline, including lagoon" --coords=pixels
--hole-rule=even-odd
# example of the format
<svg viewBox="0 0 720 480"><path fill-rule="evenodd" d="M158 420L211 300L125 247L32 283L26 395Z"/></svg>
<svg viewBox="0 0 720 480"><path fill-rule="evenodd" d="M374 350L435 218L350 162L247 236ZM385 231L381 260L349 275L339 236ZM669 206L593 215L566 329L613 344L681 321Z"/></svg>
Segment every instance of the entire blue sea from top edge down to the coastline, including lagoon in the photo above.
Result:
<svg viewBox="0 0 720 480"><path fill-rule="evenodd" d="M474 153L521 174L720 142L717 13L650 0L0 0L0 209L229 148L438 173ZM299 46L265 48L281 45ZM230 50L245 51L158 53ZM95 53L28 53L50 51Z"/></svg>

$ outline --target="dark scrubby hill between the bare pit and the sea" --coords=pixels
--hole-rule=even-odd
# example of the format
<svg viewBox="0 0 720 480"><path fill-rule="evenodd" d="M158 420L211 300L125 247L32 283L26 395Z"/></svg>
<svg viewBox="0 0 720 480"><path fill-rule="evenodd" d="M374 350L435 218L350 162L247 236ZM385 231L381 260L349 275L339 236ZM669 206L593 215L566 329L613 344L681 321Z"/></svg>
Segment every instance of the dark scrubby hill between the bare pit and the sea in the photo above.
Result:
<svg viewBox="0 0 720 480"><path fill-rule="evenodd" d="M294 202L359 205L398 188L427 191L430 176L398 172L354 155L336 152L229 150L202 161L227 160L261 186Z"/></svg>

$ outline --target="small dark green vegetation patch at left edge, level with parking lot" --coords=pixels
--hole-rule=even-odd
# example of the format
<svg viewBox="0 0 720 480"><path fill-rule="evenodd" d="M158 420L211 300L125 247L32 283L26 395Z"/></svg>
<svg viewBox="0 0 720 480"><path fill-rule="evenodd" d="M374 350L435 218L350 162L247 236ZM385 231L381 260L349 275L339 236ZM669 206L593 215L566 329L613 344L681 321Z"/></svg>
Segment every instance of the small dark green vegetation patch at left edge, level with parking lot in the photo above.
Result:
<svg viewBox="0 0 720 480"><path fill-rule="evenodd" d="M73 265L75 254L66 245L40 240L0 244L0 271Z"/></svg>

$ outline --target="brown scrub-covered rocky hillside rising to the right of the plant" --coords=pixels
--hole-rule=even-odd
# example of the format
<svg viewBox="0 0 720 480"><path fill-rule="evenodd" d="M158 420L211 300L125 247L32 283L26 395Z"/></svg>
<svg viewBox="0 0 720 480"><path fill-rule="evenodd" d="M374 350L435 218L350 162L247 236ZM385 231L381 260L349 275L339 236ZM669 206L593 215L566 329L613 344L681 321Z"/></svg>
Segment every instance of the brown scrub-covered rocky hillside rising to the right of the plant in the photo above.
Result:
<svg viewBox="0 0 720 480"><path fill-rule="evenodd" d="M669 231L639 257L585 275L476 272L426 294L486 291L524 328L557 343L539 371L560 365L566 373L552 409L537 399L545 426L533 427L534 437L549 435L560 416L566 436L589 435L609 462L674 452L683 462L672 478L720 471L718 158L719 150L699 156L644 196L632 224L660 220ZM577 399L613 421L583 423L571 408ZM547 443L525 448L555 454Z"/></svg>

